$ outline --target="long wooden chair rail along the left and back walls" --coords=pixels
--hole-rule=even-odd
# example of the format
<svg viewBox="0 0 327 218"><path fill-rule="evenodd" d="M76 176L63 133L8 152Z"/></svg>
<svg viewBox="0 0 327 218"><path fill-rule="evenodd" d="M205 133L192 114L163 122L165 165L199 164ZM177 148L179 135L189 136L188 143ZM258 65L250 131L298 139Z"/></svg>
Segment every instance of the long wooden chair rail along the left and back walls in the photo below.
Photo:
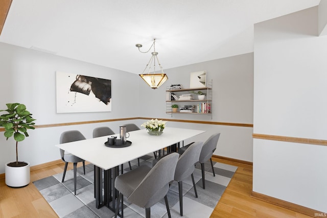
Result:
<svg viewBox="0 0 327 218"><path fill-rule="evenodd" d="M153 117L128 117L128 118L118 118L118 119L102 119L102 120L90 120L82 122L72 122L72 123L61 123L61 124L44 124L36 125L35 128L48 128L48 127L62 127L62 126L72 126L72 125L83 125L83 124L95 124L95 123L106 123L115 122L130 119L152 119ZM222 123L222 122L210 122L202 120L186 120L186 119L166 119L158 118L170 122L180 122L180 123L193 123L193 124L210 124L210 125L223 125L223 126L238 126L238 127L253 127L253 124L240 124L240 123ZM0 128L0 132L4 132L4 128Z"/></svg>

